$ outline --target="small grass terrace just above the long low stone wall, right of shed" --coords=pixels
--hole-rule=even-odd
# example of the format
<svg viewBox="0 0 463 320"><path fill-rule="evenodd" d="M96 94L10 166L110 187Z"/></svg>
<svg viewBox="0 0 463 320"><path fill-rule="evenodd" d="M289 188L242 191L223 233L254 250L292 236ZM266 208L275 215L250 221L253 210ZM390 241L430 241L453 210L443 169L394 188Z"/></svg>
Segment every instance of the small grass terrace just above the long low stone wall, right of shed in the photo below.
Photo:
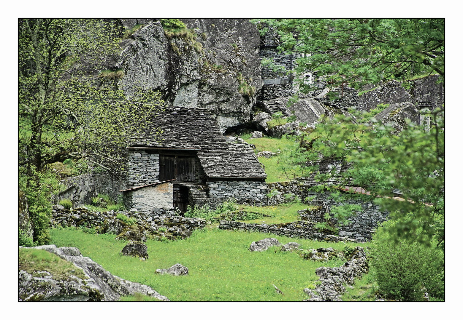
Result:
<svg viewBox="0 0 463 320"><path fill-rule="evenodd" d="M238 208L244 211L263 213L269 217L262 217L253 220L246 220L246 223L266 223L266 224L279 224L286 222L293 222L300 220L300 215L297 214L298 210L306 209L308 206L303 203L282 203L277 206L253 207L244 204L238 204Z"/></svg>

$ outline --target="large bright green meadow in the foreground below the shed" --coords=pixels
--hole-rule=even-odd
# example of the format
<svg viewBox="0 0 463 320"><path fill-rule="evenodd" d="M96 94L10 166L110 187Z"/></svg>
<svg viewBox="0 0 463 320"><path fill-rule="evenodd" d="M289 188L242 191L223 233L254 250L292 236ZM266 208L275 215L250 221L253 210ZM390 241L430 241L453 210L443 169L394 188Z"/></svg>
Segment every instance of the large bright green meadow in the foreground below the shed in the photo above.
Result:
<svg viewBox="0 0 463 320"><path fill-rule="evenodd" d="M102 265L107 271L129 281L149 285L171 301L301 301L307 298L303 289L317 280L319 266L339 266L343 262L313 262L297 252L250 252L251 242L273 237L285 244L297 241L304 250L331 246L342 250L344 243L300 240L273 234L196 230L179 241L147 240L149 259L119 255L125 241L111 234L86 234L78 229L52 229L56 246L75 246L82 254ZM276 251L276 252L275 252ZM188 267L188 276L155 274L180 263ZM284 295L275 293L275 284Z"/></svg>

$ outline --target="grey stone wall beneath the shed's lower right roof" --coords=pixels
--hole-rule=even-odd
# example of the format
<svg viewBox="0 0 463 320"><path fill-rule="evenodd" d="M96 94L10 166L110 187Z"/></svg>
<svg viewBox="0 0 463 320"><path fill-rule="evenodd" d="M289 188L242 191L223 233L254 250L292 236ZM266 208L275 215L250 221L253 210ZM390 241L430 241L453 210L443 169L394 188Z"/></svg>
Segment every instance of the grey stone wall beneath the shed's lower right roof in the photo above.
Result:
<svg viewBox="0 0 463 320"><path fill-rule="evenodd" d="M211 209L215 209L218 204L233 198L238 203L257 206L263 205L267 201L267 187L264 181L208 181L206 185L209 188L209 205Z"/></svg>

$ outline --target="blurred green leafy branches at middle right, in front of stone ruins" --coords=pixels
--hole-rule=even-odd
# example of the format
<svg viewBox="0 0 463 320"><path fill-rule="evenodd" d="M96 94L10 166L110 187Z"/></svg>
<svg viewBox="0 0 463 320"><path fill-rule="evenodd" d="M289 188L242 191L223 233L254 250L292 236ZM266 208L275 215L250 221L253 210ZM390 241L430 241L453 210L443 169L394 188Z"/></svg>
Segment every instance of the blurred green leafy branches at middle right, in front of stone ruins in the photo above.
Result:
<svg viewBox="0 0 463 320"><path fill-rule="evenodd" d="M353 117L338 116L320 123L311 132L302 132L299 144L280 161L286 172L313 176L319 191L333 193L338 203L346 198L374 199L390 212L396 223L389 232L399 238L430 244L434 238L444 244L444 128L443 111L430 113L430 132L410 121L402 132L391 125L357 124ZM319 173L319 160L344 160L350 167L344 172ZM332 181L335 181L334 183ZM369 195L340 193L340 188L360 186ZM393 190L400 190L399 201ZM339 205L332 214L339 222L359 211L359 207ZM329 218L329 216L327 217ZM326 224L321 227L327 228Z"/></svg>

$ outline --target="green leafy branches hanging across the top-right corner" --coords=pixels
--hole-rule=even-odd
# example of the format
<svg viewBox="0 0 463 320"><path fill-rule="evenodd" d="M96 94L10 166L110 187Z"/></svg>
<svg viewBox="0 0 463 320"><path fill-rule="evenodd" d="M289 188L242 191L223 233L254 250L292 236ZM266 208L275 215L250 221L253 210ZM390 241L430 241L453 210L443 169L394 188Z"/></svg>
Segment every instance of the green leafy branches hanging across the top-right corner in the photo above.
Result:
<svg viewBox="0 0 463 320"><path fill-rule="evenodd" d="M299 56L296 79L313 72L338 86L356 88L415 74L444 77L444 19L260 19L261 34L274 30L278 49ZM265 59L264 65L282 67ZM313 86L300 80L307 92Z"/></svg>

